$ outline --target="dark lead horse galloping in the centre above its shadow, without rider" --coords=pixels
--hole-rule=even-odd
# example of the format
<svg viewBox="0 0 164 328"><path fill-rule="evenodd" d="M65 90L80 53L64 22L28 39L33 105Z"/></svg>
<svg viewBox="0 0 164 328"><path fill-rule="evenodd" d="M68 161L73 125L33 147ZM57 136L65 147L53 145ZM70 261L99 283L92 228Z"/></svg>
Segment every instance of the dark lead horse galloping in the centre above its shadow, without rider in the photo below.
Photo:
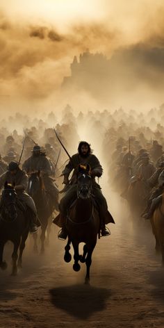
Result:
<svg viewBox="0 0 164 328"><path fill-rule="evenodd" d="M77 199L69 208L67 215L68 242L65 246L65 261L71 261L69 253L70 244L74 247L74 271L79 271L81 263L86 264L87 272L85 284L90 281L90 265L92 263L92 252L97 244L97 235L100 231L100 220L97 206L92 195L92 179L89 174L90 167L84 170L79 165L77 177ZM85 243L83 255L79 255L79 243Z"/></svg>

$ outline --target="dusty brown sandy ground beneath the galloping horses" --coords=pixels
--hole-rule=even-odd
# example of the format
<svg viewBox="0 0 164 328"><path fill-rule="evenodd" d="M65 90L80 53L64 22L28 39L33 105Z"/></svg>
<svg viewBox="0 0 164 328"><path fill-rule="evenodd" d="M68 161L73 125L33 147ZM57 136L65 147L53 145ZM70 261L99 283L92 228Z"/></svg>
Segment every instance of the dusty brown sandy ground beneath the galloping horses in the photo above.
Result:
<svg viewBox="0 0 164 328"><path fill-rule="evenodd" d="M65 242L57 240L56 227L44 256L33 254L33 240L28 240L17 277L10 277L11 245L6 247L1 328L164 327L164 270L154 254L151 229L139 222L133 227L119 204L112 235L101 238L93 254L90 286L83 284L84 264L74 272L73 262L63 261Z"/></svg>

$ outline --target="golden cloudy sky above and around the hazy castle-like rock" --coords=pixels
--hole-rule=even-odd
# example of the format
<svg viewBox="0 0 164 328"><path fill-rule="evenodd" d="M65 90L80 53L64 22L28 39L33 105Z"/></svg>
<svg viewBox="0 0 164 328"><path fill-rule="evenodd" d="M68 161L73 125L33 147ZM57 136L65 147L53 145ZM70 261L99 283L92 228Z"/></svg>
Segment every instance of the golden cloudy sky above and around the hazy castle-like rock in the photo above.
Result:
<svg viewBox="0 0 164 328"><path fill-rule="evenodd" d="M1 94L26 99L49 97L54 95L54 90L60 90L64 77L70 74L74 55L90 49L93 54L99 52L110 59L115 51L131 51L131 47L139 44L144 59L140 53L136 58L134 50L129 52L126 66L131 72L140 61L139 74L136 70L132 85L141 92L144 83L147 97L133 96L129 81L126 90L131 90L129 104L136 104L136 99L141 97L144 104L147 103L149 90L155 104L159 92L159 101L163 99L163 92L156 86L163 72L163 68L158 67L158 58L161 60L163 56L163 17L163 0L1 0ZM58 40L53 35L57 35ZM149 52L151 47L157 49L156 54ZM143 81L141 73L145 71L147 56L149 63ZM120 74L117 66L122 64L117 64L114 77ZM152 83L149 85L152 81L155 87ZM127 99L124 90L119 92ZM113 99L118 99L117 95L113 95Z"/></svg>

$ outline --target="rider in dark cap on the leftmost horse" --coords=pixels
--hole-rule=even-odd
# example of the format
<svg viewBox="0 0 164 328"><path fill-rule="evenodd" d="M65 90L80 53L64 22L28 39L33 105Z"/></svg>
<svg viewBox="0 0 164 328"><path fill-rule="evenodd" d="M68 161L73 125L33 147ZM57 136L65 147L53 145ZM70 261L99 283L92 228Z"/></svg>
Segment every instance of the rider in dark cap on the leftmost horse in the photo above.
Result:
<svg viewBox="0 0 164 328"><path fill-rule="evenodd" d="M30 231L31 233L35 233L38 230L35 203L33 202L33 199L26 193L26 189L28 187L28 176L26 175L26 172L19 168L17 162L10 162L8 165L8 171L1 174L0 189L3 188L6 181L15 187L18 204L22 211L26 212L24 205L26 206L27 215L29 215L31 218Z"/></svg>

